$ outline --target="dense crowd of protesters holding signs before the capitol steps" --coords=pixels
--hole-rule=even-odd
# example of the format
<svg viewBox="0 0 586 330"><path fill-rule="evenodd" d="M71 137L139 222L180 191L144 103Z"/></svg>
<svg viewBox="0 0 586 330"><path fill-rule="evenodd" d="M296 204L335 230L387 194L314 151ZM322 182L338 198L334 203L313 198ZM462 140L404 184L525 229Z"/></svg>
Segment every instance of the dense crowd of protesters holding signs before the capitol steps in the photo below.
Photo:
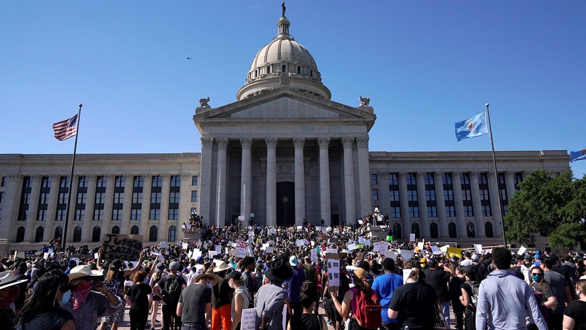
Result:
<svg viewBox="0 0 586 330"><path fill-rule="evenodd" d="M132 330L154 330L161 309L163 330L240 330L243 310L254 308L262 330L434 329L438 315L448 327L454 315L456 329L586 329L584 254L456 255L400 240L385 243L396 251L387 254L367 234L384 219L293 227L192 219L201 240L144 246L130 263L54 240L39 257L0 258L0 328L116 330L127 311ZM231 253L237 241L250 242L246 256ZM326 251L338 252L339 273L329 274Z"/></svg>

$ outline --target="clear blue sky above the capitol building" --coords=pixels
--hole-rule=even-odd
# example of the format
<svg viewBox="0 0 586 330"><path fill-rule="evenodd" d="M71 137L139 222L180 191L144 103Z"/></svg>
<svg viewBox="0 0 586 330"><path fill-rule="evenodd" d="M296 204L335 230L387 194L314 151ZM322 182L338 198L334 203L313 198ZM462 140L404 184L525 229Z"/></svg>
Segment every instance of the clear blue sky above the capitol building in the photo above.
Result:
<svg viewBox="0 0 586 330"><path fill-rule="evenodd" d="M0 152L70 153L51 124L78 103L80 153L199 152L197 100L236 101L280 6L0 2ZM372 100L371 151L490 150L454 136L487 102L497 150L586 147L586 2L308 0L286 15L332 100Z"/></svg>

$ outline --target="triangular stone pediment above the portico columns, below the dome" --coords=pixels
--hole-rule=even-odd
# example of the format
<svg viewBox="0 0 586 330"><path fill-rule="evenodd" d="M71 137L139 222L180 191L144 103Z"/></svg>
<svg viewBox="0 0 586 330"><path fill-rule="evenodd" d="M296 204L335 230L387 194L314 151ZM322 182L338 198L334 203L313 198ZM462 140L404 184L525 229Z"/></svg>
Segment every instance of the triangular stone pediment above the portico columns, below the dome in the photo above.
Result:
<svg viewBox="0 0 586 330"><path fill-rule="evenodd" d="M197 110L198 112L193 117L195 121L213 119L282 121L328 118L374 120L376 118L372 108L349 107L286 87L219 108L206 110L198 108Z"/></svg>

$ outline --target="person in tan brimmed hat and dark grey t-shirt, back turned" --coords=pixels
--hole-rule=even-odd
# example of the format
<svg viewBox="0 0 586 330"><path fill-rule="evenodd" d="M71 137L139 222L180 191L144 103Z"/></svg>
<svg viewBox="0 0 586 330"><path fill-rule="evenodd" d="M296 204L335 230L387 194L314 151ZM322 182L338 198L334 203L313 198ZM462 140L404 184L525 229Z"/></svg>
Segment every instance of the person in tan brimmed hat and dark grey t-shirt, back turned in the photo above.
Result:
<svg viewBox="0 0 586 330"><path fill-rule="evenodd" d="M216 274L203 273L193 279L179 297L177 315L181 317L182 330L207 330L206 314L212 311L212 288L219 278Z"/></svg>

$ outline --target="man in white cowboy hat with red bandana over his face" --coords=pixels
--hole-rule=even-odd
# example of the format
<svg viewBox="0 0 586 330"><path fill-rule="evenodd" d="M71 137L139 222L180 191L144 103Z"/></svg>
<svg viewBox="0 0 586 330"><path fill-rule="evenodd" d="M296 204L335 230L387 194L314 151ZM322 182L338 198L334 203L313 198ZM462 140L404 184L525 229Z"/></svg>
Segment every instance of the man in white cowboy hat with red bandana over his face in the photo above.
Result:
<svg viewBox="0 0 586 330"><path fill-rule="evenodd" d="M90 266L76 266L69 272L73 291L63 309L71 312L77 330L95 330L99 317L112 315L124 309L122 299L105 287L103 273Z"/></svg>

